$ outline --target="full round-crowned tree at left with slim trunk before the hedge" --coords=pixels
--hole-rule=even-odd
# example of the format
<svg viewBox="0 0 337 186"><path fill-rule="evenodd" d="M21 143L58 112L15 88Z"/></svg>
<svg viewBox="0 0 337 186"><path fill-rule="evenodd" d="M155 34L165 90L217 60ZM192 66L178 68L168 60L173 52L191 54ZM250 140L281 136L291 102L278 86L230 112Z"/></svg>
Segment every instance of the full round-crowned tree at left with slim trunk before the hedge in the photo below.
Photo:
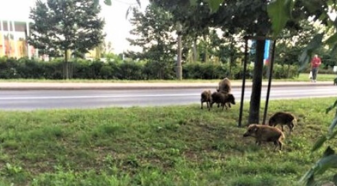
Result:
<svg viewBox="0 0 337 186"><path fill-rule="evenodd" d="M104 21L99 18L101 8L92 0L37 1L30 10L32 34L28 43L41 54L64 56L65 79L70 78L69 50L85 54L98 46L104 38Z"/></svg>

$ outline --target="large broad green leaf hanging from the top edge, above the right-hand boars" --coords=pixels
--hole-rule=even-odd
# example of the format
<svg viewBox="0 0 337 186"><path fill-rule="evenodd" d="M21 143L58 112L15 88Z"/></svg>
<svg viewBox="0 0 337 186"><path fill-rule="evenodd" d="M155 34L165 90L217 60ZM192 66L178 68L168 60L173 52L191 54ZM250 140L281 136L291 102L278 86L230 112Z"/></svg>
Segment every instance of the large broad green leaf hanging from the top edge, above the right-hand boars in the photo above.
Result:
<svg viewBox="0 0 337 186"><path fill-rule="evenodd" d="M274 0L267 6L267 12L272 20L272 29L274 36L277 36L287 21L292 18L292 8L294 2L292 0Z"/></svg>

